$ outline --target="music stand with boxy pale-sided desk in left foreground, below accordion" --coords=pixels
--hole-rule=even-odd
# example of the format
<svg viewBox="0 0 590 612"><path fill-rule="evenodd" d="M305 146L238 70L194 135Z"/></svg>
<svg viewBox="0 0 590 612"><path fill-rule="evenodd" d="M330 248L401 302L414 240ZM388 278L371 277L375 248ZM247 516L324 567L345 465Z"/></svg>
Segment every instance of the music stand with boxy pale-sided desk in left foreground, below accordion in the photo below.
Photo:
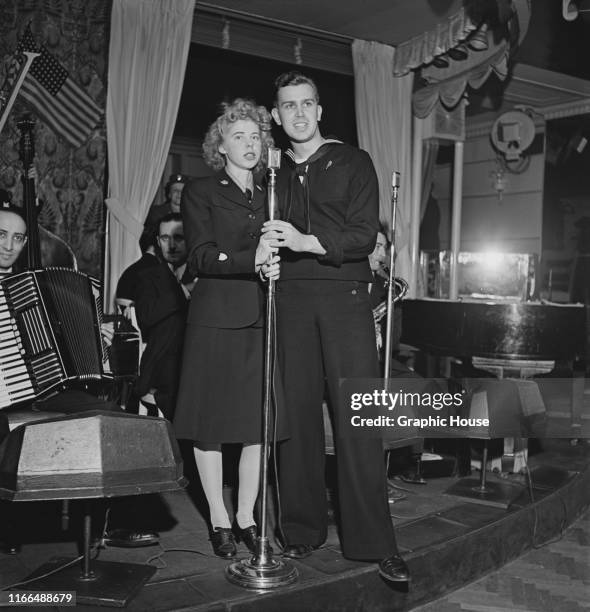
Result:
<svg viewBox="0 0 590 612"><path fill-rule="evenodd" d="M96 410L21 425L8 435L0 451L0 499L85 500L82 567L71 565L26 588L76 591L80 604L127 605L156 569L91 561L90 500L184 487L182 460L170 423ZM71 561L75 558L52 559L26 580Z"/></svg>

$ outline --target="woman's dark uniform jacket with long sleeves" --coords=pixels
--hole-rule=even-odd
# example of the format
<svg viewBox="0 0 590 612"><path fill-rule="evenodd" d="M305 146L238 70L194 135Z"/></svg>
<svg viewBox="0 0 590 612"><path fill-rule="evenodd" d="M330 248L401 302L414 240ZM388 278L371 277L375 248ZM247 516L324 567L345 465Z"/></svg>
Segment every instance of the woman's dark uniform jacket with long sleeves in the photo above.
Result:
<svg viewBox="0 0 590 612"><path fill-rule="evenodd" d="M181 214L188 264L198 276L187 323L205 327L253 325L263 312L263 292L254 271L266 194L254 186L252 202L221 171L188 183Z"/></svg>

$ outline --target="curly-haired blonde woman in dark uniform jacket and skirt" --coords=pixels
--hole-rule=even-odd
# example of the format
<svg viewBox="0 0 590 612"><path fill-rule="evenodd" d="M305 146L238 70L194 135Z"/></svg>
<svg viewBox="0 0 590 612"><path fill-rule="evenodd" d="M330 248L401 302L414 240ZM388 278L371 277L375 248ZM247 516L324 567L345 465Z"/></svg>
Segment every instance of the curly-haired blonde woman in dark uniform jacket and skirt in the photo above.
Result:
<svg viewBox="0 0 590 612"><path fill-rule="evenodd" d="M272 146L270 115L236 99L224 104L203 143L218 170L184 190L181 214L188 262L198 282L191 296L174 427L194 441L216 555L236 554L223 502L221 444L243 444L237 533L253 550L262 439L264 292L259 272L278 277L278 256L260 238L265 190L255 173ZM264 269L263 268L264 265Z"/></svg>

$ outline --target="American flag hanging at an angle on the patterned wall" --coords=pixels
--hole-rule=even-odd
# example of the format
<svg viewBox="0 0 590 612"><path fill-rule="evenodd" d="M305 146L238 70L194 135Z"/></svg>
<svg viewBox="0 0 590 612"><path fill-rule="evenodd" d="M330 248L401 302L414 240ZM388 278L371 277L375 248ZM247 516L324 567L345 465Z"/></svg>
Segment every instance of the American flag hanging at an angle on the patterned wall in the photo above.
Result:
<svg viewBox="0 0 590 612"><path fill-rule="evenodd" d="M55 57L37 43L30 25L17 46L17 54L24 51L41 55L33 61L19 93L58 136L73 147L80 147L98 123L101 109L72 81Z"/></svg>

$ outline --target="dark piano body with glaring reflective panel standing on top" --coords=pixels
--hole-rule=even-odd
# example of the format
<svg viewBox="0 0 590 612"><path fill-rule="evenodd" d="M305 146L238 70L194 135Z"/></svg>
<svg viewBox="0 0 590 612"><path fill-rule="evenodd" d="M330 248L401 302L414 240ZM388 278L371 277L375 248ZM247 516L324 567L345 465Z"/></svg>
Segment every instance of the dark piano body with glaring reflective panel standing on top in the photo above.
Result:
<svg viewBox="0 0 590 612"><path fill-rule="evenodd" d="M427 298L405 300L402 342L434 355L573 362L585 356L586 309L538 299L536 256L457 257L458 299L450 293L448 251L422 252Z"/></svg>

